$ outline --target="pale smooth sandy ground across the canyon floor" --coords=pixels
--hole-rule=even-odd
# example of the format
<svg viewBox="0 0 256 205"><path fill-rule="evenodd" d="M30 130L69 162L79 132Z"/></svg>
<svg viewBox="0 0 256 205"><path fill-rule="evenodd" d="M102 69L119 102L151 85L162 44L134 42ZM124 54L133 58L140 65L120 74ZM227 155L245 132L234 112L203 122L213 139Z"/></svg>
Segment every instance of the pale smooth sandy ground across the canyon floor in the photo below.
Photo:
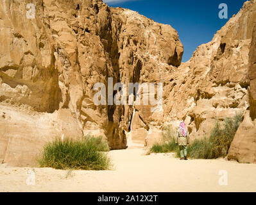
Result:
<svg viewBox="0 0 256 205"><path fill-rule="evenodd" d="M35 185L26 183L31 168L0 165L0 192L256 192L255 164L181 161L173 154L146 156L143 152L111 151L115 166L108 171L33 168ZM227 174L227 185L219 184L224 179L220 170Z"/></svg>

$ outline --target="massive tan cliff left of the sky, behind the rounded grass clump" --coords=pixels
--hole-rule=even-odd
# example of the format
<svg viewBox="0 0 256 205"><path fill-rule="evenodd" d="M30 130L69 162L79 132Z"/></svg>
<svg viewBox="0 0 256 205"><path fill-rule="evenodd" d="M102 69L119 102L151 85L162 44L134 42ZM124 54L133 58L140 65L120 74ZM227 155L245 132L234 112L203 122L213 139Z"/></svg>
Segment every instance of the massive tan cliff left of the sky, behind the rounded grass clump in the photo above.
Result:
<svg viewBox="0 0 256 205"><path fill-rule="evenodd" d="M38 0L35 19L28 3L0 3L1 162L34 165L60 136L102 135L126 148L134 108L96 106L93 87L166 78L182 60L178 33L102 1Z"/></svg>

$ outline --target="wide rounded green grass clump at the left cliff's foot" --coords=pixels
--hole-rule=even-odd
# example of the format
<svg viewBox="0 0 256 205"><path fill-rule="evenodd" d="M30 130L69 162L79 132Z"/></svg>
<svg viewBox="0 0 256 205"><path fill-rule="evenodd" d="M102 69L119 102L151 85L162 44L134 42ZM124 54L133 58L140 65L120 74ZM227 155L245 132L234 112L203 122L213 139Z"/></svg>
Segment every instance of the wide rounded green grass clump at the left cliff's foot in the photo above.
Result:
<svg viewBox="0 0 256 205"><path fill-rule="evenodd" d="M56 169L106 170L110 167L108 143L102 137L85 136L82 140L56 139L44 146L40 167Z"/></svg>

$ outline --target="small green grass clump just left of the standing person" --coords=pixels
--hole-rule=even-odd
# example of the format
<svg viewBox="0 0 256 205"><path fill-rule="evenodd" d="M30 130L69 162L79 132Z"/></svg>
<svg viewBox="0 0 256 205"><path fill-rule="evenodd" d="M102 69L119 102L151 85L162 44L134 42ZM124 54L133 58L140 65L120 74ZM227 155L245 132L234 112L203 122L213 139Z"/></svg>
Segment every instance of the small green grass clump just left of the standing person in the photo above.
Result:
<svg viewBox="0 0 256 205"><path fill-rule="evenodd" d="M155 143L150 152L152 153L167 153L167 152L175 152L177 149L177 145L175 143L175 135L176 131L171 127L163 128L163 143Z"/></svg>

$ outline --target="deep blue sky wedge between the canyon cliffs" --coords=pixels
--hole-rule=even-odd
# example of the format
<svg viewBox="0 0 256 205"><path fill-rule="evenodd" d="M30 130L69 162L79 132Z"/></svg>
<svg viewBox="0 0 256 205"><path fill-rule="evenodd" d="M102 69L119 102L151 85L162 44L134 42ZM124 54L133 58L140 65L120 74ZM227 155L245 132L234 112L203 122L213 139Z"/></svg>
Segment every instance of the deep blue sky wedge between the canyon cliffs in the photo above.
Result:
<svg viewBox="0 0 256 205"><path fill-rule="evenodd" d="M178 31L184 46L182 61L189 60L196 48L210 42L216 31L239 12L244 0L103 0L109 6L129 8L142 15L170 24ZM219 4L228 5L228 19L219 19Z"/></svg>

